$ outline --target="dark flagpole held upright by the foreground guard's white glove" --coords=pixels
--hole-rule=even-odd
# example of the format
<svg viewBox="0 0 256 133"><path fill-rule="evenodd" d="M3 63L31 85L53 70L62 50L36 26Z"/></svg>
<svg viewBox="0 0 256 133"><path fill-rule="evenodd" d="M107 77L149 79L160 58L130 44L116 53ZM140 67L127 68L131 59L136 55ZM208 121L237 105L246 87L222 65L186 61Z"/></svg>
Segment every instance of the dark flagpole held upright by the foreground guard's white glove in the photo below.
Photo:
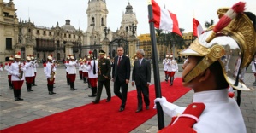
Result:
<svg viewBox="0 0 256 133"><path fill-rule="evenodd" d="M153 72L154 72L154 83L155 83L155 92L156 97L162 97L161 94L161 86L160 86L160 75L159 75L159 67L158 67L158 52L156 45L156 34L155 27L152 14L152 0L147 0L148 2L148 15L149 15L149 27L150 27L150 35L152 41L152 63L153 63ZM164 128L164 113L161 105L157 102L157 111L158 111L158 130Z"/></svg>

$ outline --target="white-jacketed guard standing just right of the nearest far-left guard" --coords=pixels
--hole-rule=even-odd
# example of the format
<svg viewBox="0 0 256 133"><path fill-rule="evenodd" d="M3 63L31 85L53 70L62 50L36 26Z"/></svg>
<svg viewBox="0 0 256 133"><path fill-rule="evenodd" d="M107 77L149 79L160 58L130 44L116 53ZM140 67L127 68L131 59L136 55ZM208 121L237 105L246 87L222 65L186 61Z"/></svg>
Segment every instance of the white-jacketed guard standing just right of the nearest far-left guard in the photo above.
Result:
<svg viewBox="0 0 256 133"><path fill-rule="evenodd" d="M26 68L25 79L26 79L27 91L29 92L29 91L33 91L31 87L32 87L33 78L34 78L34 64L33 64L33 61L31 61L31 55L27 55L26 60L27 61L24 63Z"/></svg>

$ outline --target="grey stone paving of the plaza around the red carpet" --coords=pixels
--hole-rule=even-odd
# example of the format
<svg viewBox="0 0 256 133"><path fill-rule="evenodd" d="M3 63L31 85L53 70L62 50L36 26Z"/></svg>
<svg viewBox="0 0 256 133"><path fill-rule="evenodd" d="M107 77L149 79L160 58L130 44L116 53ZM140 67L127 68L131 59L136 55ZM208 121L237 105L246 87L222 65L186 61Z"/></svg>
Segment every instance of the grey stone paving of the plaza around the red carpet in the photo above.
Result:
<svg viewBox="0 0 256 133"><path fill-rule="evenodd" d="M164 72L160 67L161 81L164 81ZM78 72L77 72L78 73ZM27 92L26 84L24 83L21 88L21 97L24 101L14 101L13 90L9 90L9 84L7 81L6 71L1 73L0 77L0 103L1 103L1 114L0 114L0 130L13 126L15 124L22 124L33 119L39 119L53 113L63 112L70 108L80 107L85 104L91 103L94 98L88 97L91 95L91 90L87 89L87 84L84 84L80 80L77 74L75 81L76 91L71 91L66 83L65 69L63 66L57 67L57 77L54 91L56 95L49 95L45 73L43 68L38 68L38 74L36 78L36 84L33 86L33 92ZM176 72L176 77L180 77L181 72ZM253 74L251 72L246 73L246 84L253 87ZM153 72L152 72L152 84L153 84ZM85 90L86 89L86 90ZM134 90L131 84L128 86L128 91ZM255 86L254 86L255 89ZM113 83L111 82L111 94L113 93ZM106 98L106 93L103 90L102 99ZM175 103L179 106L186 107L193 98L193 90L190 90L186 95L183 95ZM247 126L247 133L256 133L256 91L242 92L241 93L241 112ZM153 104L153 103L152 103ZM136 106L136 105L134 105ZM224 109L224 108L223 108ZM118 108L116 108L118 110ZM170 117L164 115L165 125L170 123ZM157 132L158 131L158 120L157 115L152 119L147 120L144 124L134 129L133 133L142 132Z"/></svg>

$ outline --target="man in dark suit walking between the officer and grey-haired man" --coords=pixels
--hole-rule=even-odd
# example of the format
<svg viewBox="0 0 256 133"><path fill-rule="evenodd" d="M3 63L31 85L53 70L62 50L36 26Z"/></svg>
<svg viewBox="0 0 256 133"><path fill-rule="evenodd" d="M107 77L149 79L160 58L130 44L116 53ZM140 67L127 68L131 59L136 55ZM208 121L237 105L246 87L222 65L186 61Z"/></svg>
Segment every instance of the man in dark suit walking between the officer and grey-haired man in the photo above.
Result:
<svg viewBox="0 0 256 133"><path fill-rule="evenodd" d="M114 59L114 66L112 71L114 93L122 100L119 112L122 112L126 105L128 83L131 71L130 59L128 56L123 55L123 52L124 51L122 47L117 48L118 56L116 56ZM122 89L122 93L120 92L120 87Z"/></svg>

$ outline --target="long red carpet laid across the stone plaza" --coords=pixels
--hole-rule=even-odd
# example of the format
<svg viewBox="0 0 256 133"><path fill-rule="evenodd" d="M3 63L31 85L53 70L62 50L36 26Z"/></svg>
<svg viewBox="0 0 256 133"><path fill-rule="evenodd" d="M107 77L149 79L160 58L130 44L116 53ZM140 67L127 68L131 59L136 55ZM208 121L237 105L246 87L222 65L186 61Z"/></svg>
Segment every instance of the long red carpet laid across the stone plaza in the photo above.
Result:
<svg viewBox="0 0 256 133"><path fill-rule="evenodd" d="M131 85L131 84L129 84ZM176 101L190 89L182 87L182 79L176 78L174 85L161 83L162 94L168 101ZM41 119L35 119L25 124L18 124L1 133L86 133L86 132L130 132L143 124L146 120L151 119L157 111L152 109L155 99L154 86L150 86L150 109L140 113L135 113L137 109L136 90L128 92L126 108L123 112L118 112L121 101L112 97L109 103L105 100L100 104L88 104L81 107L55 113Z"/></svg>

